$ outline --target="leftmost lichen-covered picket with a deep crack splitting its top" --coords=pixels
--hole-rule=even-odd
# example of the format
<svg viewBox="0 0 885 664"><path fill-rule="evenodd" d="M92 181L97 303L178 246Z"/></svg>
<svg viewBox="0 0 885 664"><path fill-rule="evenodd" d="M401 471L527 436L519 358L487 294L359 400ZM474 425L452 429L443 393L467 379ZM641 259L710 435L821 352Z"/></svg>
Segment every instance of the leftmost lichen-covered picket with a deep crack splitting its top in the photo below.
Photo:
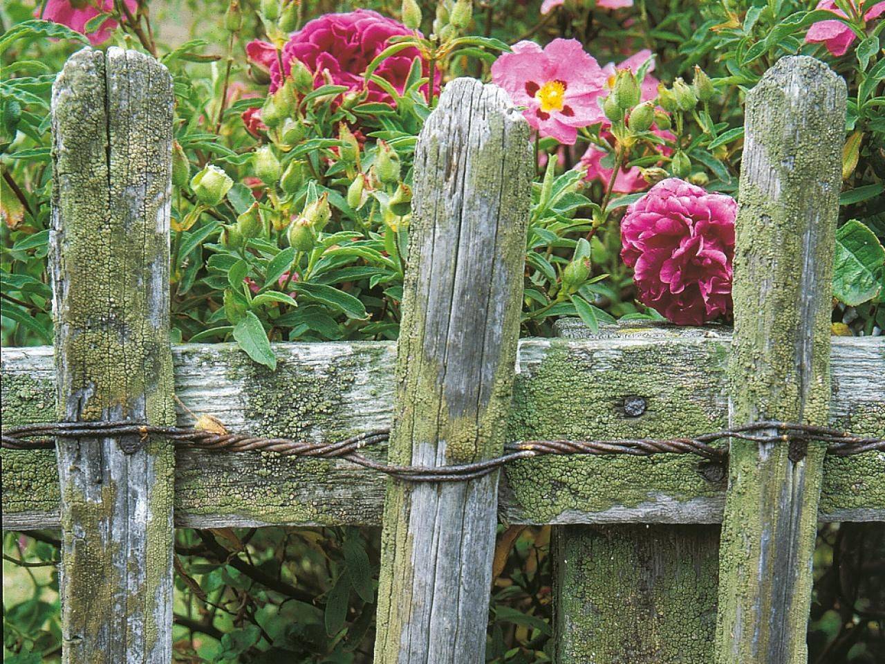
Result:
<svg viewBox="0 0 885 664"><path fill-rule="evenodd" d="M84 49L52 92L58 417L174 424L169 348L172 81ZM173 449L59 439L63 661L172 660ZM135 450L135 451L133 451Z"/></svg>

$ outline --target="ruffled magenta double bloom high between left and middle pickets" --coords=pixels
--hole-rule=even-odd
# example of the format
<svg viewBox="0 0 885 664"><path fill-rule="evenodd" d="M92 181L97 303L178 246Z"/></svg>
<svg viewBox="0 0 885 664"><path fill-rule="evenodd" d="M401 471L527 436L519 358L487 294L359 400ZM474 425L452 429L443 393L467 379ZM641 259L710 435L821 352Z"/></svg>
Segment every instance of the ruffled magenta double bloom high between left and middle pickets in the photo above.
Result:
<svg viewBox="0 0 885 664"><path fill-rule="evenodd" d="M342 14L324 14L319 19L308 21L289 37L289 42L283 46L281 57L277 56L273 44L258 40L246 46L246 55L253 65L270 74L271 92L278 89L282 82L280 61L282 60L283 73L289 75L293 58L301 60L312 71L316 87L326 82L324 72L327 72L335 85L361 90L366 67L390 45L390 37L413 34L412 30L394 19L388 19L371 10L358 9ZM417 49L401 50L385 59L375 70L375 74L389 81L397 92L402 92L412 62L419 57ZM424 66L427 73L427 63ZM439 84L438 73L435 84ZM389 94L376 83L370 82L367 90L366 101L392 101Z"/></svg>

